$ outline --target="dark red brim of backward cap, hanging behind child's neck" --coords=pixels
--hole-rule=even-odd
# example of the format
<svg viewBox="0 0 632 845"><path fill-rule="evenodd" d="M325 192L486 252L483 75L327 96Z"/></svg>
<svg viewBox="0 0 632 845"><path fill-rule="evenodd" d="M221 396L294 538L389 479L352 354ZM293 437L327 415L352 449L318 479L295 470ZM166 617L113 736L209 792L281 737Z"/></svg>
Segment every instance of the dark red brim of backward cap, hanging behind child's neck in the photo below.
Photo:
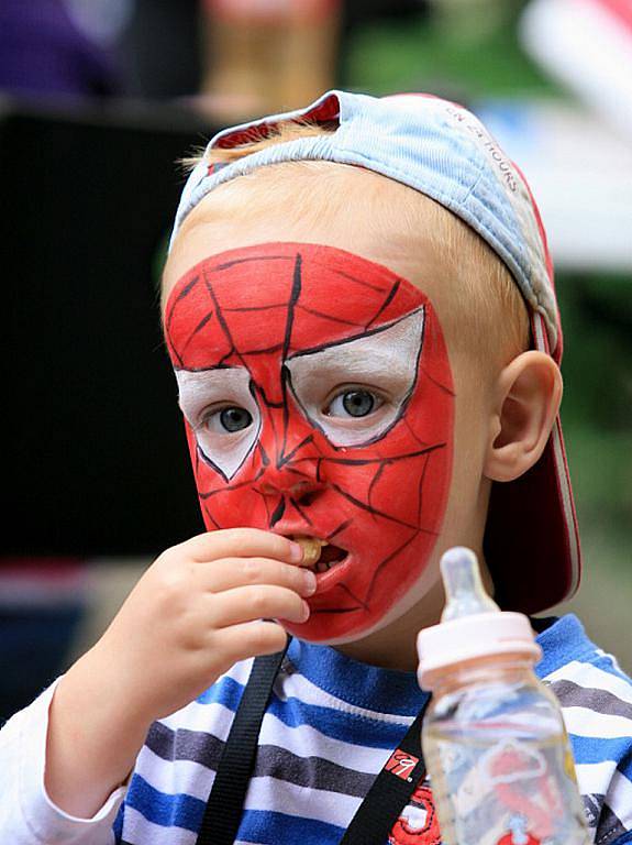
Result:
<svg viewBox="0 0 632 845"><path fill-rule="evenodd" d="M540 320L533 328L534 347L548 351ZM579 534L559 417L537 463L492 484L485 555L503 610L537 613L577 590Z"/></svg>

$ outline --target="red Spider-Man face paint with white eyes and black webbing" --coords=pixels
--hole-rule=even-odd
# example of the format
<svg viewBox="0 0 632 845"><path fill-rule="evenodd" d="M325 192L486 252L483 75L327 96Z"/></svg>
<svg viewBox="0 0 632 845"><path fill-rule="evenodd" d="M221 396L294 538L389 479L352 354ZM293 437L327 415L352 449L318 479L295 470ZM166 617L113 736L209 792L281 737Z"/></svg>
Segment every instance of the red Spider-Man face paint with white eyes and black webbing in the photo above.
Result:
<svg viewBox="0 0 632 845"><path fill-rule="evenodd" d="M424 571L452 464L452 375L428 297L330 246L213 255L165 329L209 530L329 544L299 636L355 639ZM420 596L421 597L421 596Z"/></svg>

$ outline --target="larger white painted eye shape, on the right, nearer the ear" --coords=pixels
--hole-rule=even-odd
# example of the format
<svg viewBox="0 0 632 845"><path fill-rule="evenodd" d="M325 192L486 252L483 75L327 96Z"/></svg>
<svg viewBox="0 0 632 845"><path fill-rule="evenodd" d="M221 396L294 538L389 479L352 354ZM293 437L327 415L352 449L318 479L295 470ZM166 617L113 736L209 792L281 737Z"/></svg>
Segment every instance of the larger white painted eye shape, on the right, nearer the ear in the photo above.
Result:
<svg viewBox="0 0 632 845"><path fill-rule="evenodd" d="M366 446L397 422L417 383L423 327L424 309L418 308L285 362L298 405L334 446Z"/></svg>

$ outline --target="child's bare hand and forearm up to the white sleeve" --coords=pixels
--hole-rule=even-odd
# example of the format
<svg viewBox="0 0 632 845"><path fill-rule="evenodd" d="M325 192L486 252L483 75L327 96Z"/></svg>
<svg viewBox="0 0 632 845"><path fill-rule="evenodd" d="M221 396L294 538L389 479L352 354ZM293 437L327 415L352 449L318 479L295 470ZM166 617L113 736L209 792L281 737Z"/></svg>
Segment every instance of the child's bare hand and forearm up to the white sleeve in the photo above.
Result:
<svg viewBox="0 0 632 845"><path fill-rule="evenodd" d="M151 723L196 699L234 662L273 654L304 622L315 575L285 537L213 531L167 549L97 645L62 678L51 705L45 783L90 817L134 766Z"/></svg>

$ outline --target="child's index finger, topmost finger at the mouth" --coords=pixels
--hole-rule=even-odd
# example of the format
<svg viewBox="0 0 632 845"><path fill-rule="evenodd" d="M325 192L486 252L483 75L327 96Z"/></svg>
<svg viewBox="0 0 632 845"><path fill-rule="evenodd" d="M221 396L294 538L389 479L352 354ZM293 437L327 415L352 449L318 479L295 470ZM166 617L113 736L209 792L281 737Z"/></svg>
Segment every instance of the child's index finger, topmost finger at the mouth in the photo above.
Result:
<svg viewBox="0 0 632 845"><path fill-rule="evenodd" d="M175 548L199 562L226 557L262 557L299 563L303 557L298 542L258 528L226 528L199 534Z"/></svg>

